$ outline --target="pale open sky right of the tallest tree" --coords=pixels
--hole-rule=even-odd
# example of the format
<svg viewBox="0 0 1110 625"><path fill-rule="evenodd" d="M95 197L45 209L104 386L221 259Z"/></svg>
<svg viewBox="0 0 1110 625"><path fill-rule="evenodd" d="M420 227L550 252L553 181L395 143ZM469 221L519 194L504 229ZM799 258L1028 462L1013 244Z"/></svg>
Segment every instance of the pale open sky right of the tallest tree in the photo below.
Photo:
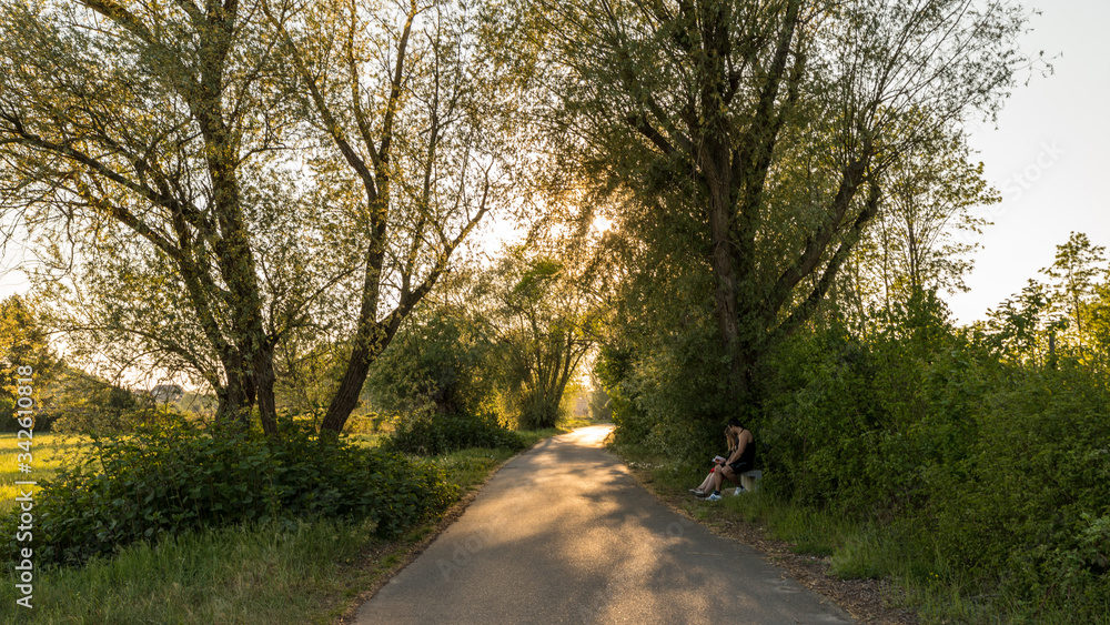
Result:
<svg viewBox="0 0 1110 625"><path fill-rule="evenodd" d="M995 225L979 239L970 292L949 299L960 323L983 319L987 309L1021 291L1070 232L1084 232L1110 248L1110 203L1100 181L1110 172L1110 4L1099 0L1045 0L1025 36L1029 54L1045 51L1053 75L1019 87L998 117L997 129L973 129L988 181L1002 202L985 212Z"/></svg>

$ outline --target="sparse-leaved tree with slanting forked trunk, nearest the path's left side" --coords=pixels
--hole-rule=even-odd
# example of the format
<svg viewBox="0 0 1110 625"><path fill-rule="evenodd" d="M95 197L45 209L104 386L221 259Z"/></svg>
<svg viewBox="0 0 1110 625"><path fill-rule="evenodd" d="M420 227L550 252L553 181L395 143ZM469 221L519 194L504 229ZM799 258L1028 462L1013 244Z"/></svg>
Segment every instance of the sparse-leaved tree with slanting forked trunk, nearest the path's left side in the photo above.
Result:
<svg viewBox="0 0 1110 625"><path fill-rule="evenodd" d="M339 432L374 359L509 189L512 107L463 2L263 0L307 88L320 171L353 206L361 284L350 353L322 426Z"/></svg>

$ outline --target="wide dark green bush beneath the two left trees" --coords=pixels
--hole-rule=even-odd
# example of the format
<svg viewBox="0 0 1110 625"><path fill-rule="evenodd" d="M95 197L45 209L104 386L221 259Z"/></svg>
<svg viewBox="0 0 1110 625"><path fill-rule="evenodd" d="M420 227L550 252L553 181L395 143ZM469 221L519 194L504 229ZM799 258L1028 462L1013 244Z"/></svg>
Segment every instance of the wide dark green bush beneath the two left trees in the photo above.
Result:
<svg viewBox="0 0 1110 625"><path fill-rule="evenodd" d="M294 423L274 438L172 420L94 446L37 496L37 563L80 564L135 541L275 518L369 518L393 535L454 497L434 467ZM12 541L18 514L0 525Z"/></svg>

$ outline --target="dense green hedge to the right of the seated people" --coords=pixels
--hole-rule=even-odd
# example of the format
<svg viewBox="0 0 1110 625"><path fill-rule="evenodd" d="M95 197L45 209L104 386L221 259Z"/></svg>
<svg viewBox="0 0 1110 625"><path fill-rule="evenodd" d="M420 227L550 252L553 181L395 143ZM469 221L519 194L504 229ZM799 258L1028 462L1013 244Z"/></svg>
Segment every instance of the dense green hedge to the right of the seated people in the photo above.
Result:
<svg viewBox="0 0 1110 625"><path fill-rule="evenodd" d="M776 355L760 431L777 493L881 524L912 557L1016 602L1016 614L1100 613L1104 379L1071 357L1005 364L925 302L914 308L869 341L828 330ZM871 571L840 557L846 572Z"/></svg>

